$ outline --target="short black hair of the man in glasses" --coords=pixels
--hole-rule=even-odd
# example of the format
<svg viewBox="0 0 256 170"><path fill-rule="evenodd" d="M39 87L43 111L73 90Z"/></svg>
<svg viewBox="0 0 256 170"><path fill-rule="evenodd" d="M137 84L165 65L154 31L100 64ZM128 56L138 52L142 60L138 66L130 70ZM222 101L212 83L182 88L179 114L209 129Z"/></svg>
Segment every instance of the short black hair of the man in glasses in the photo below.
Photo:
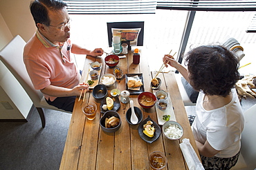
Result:
<svg viewBox="0 0 256 170"><path fill-rule="evenodd" d="M30 3L30 12L34 18L35 25L43 23L49 26L51 21L48 17L48 10L61 10L66 6L66 3L58 0L35 0Z"/></svg>

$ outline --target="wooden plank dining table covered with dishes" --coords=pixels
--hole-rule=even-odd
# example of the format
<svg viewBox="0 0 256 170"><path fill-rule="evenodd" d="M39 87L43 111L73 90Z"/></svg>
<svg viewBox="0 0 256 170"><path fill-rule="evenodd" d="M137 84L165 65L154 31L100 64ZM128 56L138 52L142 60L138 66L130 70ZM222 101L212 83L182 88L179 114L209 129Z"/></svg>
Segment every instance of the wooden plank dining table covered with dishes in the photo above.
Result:
<svg viewBox="0 0 256 170"><path fill-rule="evenodd" d="M147 49L140 48L140 63L132 63L133 50L129 50L125 58L120 59L118 67L124 74L143 74L143 86L145 92L156 92L151 89L150 82L156 72L150 72L148 57L151 53ZM84 61L84 70L81 81L89 72L89 63L98 61L102 63L101 76L103 74L113 74L113 68L105 65L104 56L92 57L86 56ZM159 65L159 68L161 65ZM148 156L153 151L161 151L167 157L167 166L164 169L188 169L185 163L183 153L179 147L183 138L190 139L190 143L199 156L196 148L194 136L190 127L188 116L183 105L183 100L176 83L174 72L158 74L162 83L159 89L168 89L176 121L181 124L184 133L179 140L169 140L163 133L159 138L152 142L145 142L138 134L139 125L129 125L125 118L129 103L120 103L118 114L122 121L120 129L114 133L104 132L100 127L100 100L93 98L92 89L86 92L85 100L80 100L77 96L75 106L71 117L71 123L66 137L66 144L60 164L60 169L99 169L99 170L125 170L125 169L150 169ZM108 96L111 89L126 89L125 78L117 80L114 85L108 87ZM120 96L119 96L120 97ZM156 107L144 109L138 103L138 94L130 95L129 98L134 100L134 106L139 107L143 112L143 120L150 116L154 122L158 123ZM97 105L98 110L94 120L86 119L82 112L83 103L93 102ZM161 126L160 126L161 127ZM200 159L200 157L199 157Z"/></svg>

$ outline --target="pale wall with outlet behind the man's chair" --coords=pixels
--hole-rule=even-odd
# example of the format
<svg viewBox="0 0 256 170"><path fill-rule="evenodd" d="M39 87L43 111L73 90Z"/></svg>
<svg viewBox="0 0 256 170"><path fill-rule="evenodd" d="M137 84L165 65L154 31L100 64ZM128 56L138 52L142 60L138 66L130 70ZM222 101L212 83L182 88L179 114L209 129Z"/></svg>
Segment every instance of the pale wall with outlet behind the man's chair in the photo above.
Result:
<svg viewBox="0 0 256 170"><path fill-rule="evenodd" d="M35 33L29 5L30 0L0 0L0 50L17 34L28 41ZM24 119L32 106L24 89L1 61L0 103L0 119ZM6 109L6 103L12 109Z"/></svg>

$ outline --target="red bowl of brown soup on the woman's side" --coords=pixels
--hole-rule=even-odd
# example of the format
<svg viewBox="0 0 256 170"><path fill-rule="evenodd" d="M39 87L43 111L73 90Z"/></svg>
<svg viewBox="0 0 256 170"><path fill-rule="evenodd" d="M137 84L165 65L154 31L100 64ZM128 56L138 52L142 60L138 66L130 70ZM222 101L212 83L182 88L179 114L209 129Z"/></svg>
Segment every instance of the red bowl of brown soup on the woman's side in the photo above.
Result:
<svg viewBox="0 0 256 170"><path fill-rule="evenodd" d="M152 92L142 92L138 95L138 104L145 109L149 109L156 104L156 96Z"/></svg>

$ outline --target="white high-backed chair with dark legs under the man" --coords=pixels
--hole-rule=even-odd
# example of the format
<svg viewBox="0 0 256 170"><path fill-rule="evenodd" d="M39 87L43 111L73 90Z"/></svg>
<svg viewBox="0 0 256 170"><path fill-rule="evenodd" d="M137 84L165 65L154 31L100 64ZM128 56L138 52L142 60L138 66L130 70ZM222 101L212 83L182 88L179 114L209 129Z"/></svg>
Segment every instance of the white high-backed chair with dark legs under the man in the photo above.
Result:
<svg viewBox="0 0 256 170"><path fill-rule="evenodd" d="M17 81L24 88L30 99L33 101L33 105L37 108L39 116L42 121L42 127L45 127L46 120L44 117L44 110L53 109L57 111L64 111L62 109L57 109L57 107L53 107L52 105L48 105L42 92L37 89L34 89L34 86L28 76L28 72L26 71L26 67L23 61L23 51L26 42L21 38L21 36L15 36L6 47L0 51L0 60L4 65L10 70L10 72L15 76ZM64 111L68 112L68 111ZM70 113L70 112L68 112Z"/></svg>

